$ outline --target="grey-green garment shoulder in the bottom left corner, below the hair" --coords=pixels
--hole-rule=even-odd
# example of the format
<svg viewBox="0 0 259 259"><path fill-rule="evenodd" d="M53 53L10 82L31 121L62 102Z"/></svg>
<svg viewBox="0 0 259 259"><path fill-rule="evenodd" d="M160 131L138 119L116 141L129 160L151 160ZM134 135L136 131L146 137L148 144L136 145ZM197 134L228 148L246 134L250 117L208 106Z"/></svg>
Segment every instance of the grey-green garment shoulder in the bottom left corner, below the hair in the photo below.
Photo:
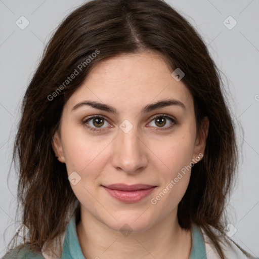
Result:
<svg viewBox="0 0 259 259"><path fill-rule="evenodd" d="M4 255L2 259L44 259L44 256L40 252L31 251L27 247L15 248Z"/></svg>

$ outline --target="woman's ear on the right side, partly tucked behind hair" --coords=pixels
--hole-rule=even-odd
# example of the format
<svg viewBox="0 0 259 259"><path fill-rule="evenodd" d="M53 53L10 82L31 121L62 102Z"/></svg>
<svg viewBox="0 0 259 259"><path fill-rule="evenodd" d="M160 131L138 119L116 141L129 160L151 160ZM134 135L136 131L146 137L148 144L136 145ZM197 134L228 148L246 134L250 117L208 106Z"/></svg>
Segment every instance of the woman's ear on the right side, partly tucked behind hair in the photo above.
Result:
<svg viewBox="0 0 259 259"><path fill-rule="evenodd" d="M200 161L204 155L204 150L206 147L206 140L208 136L209 119L204 117L201 122L200 131L196 135L195 147L193 152L193 162L197 163Z"/></svg>

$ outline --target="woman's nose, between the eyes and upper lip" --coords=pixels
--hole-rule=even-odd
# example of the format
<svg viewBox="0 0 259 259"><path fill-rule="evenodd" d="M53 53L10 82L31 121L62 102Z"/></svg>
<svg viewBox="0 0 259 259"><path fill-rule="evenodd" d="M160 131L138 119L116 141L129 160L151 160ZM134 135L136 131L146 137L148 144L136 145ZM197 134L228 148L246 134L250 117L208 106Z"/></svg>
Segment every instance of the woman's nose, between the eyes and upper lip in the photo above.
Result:
<svg viewBox="0 0 259 259"><path fill-rule="evenodd" d="M137 136L135 127L128 133L119 129L114 140L112 164L117 170L127 174L135 174L148 164L148 148L144 141Z"/></svg>

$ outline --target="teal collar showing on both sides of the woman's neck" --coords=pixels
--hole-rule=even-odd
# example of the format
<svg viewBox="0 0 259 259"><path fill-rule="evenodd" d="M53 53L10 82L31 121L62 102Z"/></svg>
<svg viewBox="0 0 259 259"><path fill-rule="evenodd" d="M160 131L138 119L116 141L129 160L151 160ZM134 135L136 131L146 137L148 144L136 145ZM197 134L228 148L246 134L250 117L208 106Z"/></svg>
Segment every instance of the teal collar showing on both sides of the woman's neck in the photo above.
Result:
<svg viewBox="0 0 259 259"><path fill-rule="evenodd" d="M61 255L61 259L71 258L85 259L76 233L75 213L68 224ZM192 225L192 248L189 259L207 259L203 235L196 225Z"/></svg>

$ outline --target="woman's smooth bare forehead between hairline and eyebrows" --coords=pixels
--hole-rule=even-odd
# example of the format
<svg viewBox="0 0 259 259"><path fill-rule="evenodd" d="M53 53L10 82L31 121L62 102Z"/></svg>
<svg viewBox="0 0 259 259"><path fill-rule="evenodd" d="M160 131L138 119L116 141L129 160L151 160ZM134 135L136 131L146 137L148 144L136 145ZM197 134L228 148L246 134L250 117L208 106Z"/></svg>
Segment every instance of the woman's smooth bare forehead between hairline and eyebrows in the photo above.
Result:
<svg viewBox="0 0 259 259"><path fill-rule="evenodd" d="M121 54L97 63L67 102L72 107L85 99L131 111L162 99L176 99L193 108L185 83L176 81L157 52Z"/></svg>

